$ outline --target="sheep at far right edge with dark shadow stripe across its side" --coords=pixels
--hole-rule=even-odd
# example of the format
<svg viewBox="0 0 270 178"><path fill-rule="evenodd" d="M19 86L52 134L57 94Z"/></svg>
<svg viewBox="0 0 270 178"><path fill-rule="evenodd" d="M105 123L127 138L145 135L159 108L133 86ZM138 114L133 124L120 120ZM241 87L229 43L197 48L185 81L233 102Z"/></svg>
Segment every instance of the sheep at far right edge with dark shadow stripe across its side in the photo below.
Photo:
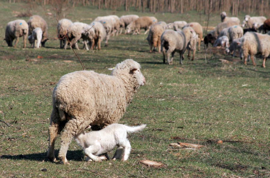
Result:
<svg viewBox="0 0 270 178"><path fill-rule="evenodd" d="M247 32L243 36L242 50L244 55L244 64L247 65L247 56L250 55L250 58L253 62L253 65L256 65L254 61L254 55L262 54L263 62L262 67L265 68L266 58L270 54L270 36L268 34L261 34L256 32Z"/></svg>

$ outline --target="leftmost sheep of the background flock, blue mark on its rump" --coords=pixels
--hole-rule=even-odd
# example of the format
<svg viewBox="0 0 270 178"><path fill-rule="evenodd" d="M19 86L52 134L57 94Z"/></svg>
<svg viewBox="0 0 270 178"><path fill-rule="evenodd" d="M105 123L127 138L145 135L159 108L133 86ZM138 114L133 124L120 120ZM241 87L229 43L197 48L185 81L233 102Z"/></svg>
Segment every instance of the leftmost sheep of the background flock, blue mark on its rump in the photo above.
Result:
<svg viewBox="0 0 270 178"><path fill-rule="evenodd" d="M25 20L14 20L7 23L5 32L5 41L9 47L12 47L12 42L15 39L14 47L19 42L19 37L23 36L23 48L26 47L26 40L28 36L28 24Z"/></svg>

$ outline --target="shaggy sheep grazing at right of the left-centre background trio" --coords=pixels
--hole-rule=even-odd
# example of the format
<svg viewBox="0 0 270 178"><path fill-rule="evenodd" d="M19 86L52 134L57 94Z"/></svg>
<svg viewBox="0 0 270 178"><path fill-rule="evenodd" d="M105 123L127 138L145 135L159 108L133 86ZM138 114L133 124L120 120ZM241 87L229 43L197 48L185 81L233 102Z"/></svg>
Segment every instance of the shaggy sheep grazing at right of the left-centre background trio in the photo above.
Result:
<svg viewBox="0 0 270 178"><path fill-rule="evenodd" d="M92 50L94 48L96 49L97 47L98 47L98 50L101 50L102 40L103 39L105 39L106 41L108 40L106 30L104 26L101 24L101 22L94 21L90 24L90 26L93 27L93 30L95 32L95 33L89 33L88 35L90 47Z"/></svg>

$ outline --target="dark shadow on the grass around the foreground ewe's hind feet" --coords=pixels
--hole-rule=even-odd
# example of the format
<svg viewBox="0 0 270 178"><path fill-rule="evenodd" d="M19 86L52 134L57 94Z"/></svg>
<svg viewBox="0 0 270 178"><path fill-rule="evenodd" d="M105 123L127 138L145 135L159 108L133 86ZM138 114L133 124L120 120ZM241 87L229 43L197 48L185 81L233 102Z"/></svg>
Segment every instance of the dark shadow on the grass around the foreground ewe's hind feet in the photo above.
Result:
<svg viewBox="0 0 270 178"><path fill-rule="evenodd" d="M55 156L58 155L59 150L55 150ZM47 152L33 153L33 154L19 154L19 155L0 155L0 159L13 159L13 160L32 160L32 161L48 161ZM82 161L84 159L82 150L67 151L67 160ZM57 160L59 161L59 159Z"/></svg>

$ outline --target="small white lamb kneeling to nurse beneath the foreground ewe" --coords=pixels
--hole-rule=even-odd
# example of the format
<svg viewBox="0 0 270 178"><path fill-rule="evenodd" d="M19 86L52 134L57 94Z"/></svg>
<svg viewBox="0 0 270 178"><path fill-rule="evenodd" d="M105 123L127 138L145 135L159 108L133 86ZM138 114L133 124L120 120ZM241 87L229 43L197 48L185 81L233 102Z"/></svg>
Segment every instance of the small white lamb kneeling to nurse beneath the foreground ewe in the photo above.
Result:
<svg viewBox="0 0 270 178"><path fill-rule="evenodd" d="M89 125L86 128L90 128ZM85 133L84 131L74 137L77 144L83 149L86 161L102 162L104 157L99 157L105 154L109 159L107 152L112 151L116 146L118 147L113 160L120 159L122 152L122 161L128 160L131 151L131 145L127 138L127 133L133 133L143 130L146 124L130 127L123 124L111 124L100 131L91 131Z"/></svg>

